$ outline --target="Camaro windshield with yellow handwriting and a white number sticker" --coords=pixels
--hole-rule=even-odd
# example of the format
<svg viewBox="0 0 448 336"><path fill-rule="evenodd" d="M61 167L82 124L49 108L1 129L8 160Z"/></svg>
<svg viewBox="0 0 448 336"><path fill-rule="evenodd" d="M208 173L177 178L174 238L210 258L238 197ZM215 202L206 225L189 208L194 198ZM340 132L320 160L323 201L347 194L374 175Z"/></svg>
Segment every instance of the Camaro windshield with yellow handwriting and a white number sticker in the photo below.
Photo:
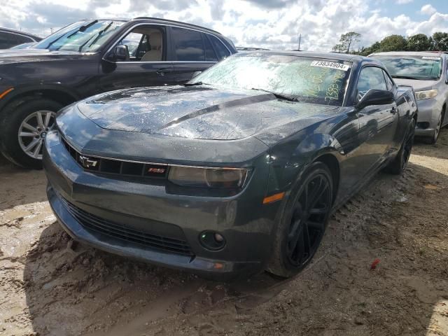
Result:
<svg viewBox="0 0 448 336"><path fill-rule="evenodd" d="M351 63L330 59L236 54L200 73L188 85L262 90L279 99L341 106L350 71Z"/></svg>

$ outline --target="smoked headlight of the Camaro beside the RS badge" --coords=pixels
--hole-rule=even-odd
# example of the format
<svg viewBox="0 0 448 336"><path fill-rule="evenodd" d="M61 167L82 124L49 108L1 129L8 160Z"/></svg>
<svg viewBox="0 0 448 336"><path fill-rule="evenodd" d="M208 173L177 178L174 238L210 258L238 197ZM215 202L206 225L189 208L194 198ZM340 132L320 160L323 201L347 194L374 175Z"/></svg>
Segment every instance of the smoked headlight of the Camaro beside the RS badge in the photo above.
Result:
<svg viewBox="0 0 448 336"><path fill-rule="evenodd" d="M199 188L241 188L247 169L171 167L168 179L179 186Z"/></svg>

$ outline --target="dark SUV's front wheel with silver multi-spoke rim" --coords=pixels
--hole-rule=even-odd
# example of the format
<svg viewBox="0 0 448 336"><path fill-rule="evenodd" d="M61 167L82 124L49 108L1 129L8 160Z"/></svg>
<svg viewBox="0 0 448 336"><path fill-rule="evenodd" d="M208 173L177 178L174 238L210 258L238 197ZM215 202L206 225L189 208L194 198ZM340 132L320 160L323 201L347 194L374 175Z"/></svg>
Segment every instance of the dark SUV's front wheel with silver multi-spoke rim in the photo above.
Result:
<svg viewBox="0 0 448 336"><path fill-rule="evenodd" d="M6 106L0 116L1 153L15 165L41 169L43 140L62 107L50 99L34 97Z"/></svg>

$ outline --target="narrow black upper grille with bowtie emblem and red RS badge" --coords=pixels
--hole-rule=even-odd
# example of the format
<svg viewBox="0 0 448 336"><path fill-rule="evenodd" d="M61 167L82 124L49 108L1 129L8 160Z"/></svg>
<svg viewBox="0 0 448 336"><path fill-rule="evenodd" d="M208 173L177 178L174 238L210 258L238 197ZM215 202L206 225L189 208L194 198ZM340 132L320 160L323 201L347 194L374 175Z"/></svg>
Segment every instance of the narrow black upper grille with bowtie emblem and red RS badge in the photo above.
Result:
<svg viewBox="0 0 448 336"><path fill-rule="evenodd" d="M123 176L141 176L152 179L166 179L168 176L167 165L154 165L145 162L128 162L124 160L112 160L97 158L91 155L83 155L76 151L63 137L62 144L69 152L70 156L78 162L80 167L89 172L99 172L104 174L119 174Z"/></svg>

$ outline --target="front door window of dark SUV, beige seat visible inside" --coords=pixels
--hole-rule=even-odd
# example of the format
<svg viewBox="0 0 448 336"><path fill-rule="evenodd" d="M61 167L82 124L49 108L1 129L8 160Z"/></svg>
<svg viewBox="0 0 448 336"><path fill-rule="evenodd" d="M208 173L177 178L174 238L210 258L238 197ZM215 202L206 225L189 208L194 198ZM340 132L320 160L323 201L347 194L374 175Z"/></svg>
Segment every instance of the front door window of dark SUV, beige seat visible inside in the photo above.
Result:
<svg viewBox="0 0 448 336"><path fill-rule="evenodd" d="M118 44L127 45L130 62L160 62L163 60L165 34L160 27L138 26Z"/></svg>

